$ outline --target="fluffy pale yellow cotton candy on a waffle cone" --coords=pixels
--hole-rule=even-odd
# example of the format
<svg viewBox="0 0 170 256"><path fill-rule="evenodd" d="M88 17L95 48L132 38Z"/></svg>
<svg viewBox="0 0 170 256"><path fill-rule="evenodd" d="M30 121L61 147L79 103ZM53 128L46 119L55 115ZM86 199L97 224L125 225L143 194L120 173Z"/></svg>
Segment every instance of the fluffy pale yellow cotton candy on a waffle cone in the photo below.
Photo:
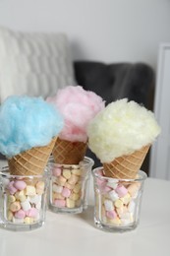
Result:
<svg viewBox="0 0 170 256"><path fill-rule="evenodd" d="M151 144L159 133L151 111L123 98L108 104L91 120L88 147L101 162L111 162Z"/></svg>

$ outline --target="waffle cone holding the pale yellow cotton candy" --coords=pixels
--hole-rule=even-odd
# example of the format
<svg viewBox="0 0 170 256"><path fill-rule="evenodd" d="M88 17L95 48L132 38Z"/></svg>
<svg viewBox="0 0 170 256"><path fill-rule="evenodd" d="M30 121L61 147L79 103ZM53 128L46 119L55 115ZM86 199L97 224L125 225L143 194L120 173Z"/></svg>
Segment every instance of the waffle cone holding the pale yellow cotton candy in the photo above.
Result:
<svg viewBox="0 0 170 256"><path fill-rule="evenodd" d="M103 163L105 176L119 179L136 178L149 147L150 145L147 145L131 155L119 157L110 163Z"/></svg>

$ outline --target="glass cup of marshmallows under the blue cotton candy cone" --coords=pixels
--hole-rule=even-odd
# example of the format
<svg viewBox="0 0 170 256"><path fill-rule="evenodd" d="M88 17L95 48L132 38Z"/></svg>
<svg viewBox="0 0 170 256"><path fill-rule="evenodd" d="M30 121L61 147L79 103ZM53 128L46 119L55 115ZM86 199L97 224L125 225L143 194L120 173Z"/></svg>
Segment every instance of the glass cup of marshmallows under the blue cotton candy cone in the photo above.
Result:
<svg viewBox="0 0 170 256"><path fill-rule="evenodd" d="M42 175L11 175L0 169L0 227L25 231L45 222L48 172Z"/></svg>

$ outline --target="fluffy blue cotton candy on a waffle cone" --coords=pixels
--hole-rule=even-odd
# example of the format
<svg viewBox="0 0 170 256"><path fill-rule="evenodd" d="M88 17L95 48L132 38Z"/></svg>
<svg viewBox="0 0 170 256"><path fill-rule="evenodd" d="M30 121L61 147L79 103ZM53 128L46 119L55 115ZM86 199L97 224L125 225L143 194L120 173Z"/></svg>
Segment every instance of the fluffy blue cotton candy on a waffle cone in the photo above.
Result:
<svg viewBox="0 0 170 256"><path fill-rule="evenodd" d="M45 146L63 126L62 115L42 97L9 96L0 106L0 152L11 158Z"/></svg>

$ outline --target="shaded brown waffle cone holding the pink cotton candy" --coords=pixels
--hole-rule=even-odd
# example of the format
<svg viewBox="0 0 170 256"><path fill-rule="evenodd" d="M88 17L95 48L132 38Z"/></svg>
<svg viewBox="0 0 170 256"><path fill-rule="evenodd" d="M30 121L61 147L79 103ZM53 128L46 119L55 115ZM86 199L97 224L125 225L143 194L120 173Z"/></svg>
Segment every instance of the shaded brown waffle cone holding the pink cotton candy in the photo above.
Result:
<svg viewBox="0 0 170 256"><path fill-rule="evenodd" d="M79 164L85 158L86 143L57 138L52 151L54 161L61 164Z"/></svg>

